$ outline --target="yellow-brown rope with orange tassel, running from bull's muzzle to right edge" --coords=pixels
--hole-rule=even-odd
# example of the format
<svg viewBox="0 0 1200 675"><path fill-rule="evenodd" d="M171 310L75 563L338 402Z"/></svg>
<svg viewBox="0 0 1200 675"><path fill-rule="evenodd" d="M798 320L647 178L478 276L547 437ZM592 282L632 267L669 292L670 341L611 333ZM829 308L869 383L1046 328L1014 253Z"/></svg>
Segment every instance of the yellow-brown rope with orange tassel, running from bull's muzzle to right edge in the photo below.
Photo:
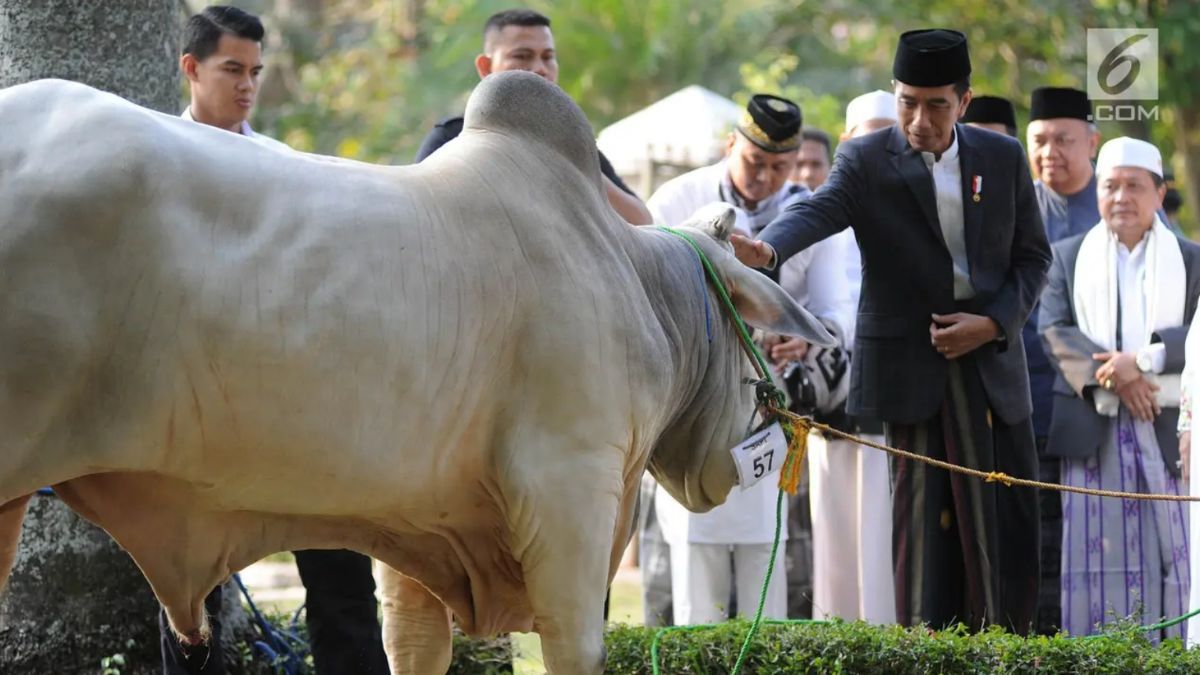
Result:
<svg viewBox="0 0 1200 675"><path fill-rule="evenodd" d="M814 422L806 417L800 417L790 410L784 410L776 406L770 406L768 410L781 419L787 420L786 426L790 429L792 437L788 440L787 444L787 459L784 460L784 472L779 476L779 488L787 491L790 495L796 494L796 489L799 486L799 466L804 462L804 455L808 452L808 442L797 443L797 437L808 438L809 431L816 430L822 434L830 436L836 436L859 446L866 446L869 448L875 448L877 450L883 450L890 453L895 456L911 459L913 461L922 461L930 466L936 466L938 468L944 468L947 471L953 471L956 473L965 473L967 476L973 476L976 478L982 478L988 483L1002 483L1009 488L1038 488L1040 490L1058 490L1062 492L1076 492L1080 495L1092 495L1096 497L1117 497L1122 500L1150 500L1160 502L1200 502L1200 497L1190 497L1187 495L1154 495L1147 492L1118 492L1115 490L1093 490L1091 488L1075 488L1073 485L1060 485L1057 483L1043 483L1042 480L1027 480L1025 478L1013 478L1012 476L1001 471L979 471L976 468L967 468L965 466L959 466L956 464L950 464L948 461L942 461L932 458L922 456L898 448L890 448L882 443L876 443L874 441L868 441L866 438L859 438L853 434L846 434L845 431L839 431L828 424L821 424L820 422ZM794 449L793 449L794 447ZM788 470L792 474L788 474ZM794 474L794 476L793 476Z"/></svg>

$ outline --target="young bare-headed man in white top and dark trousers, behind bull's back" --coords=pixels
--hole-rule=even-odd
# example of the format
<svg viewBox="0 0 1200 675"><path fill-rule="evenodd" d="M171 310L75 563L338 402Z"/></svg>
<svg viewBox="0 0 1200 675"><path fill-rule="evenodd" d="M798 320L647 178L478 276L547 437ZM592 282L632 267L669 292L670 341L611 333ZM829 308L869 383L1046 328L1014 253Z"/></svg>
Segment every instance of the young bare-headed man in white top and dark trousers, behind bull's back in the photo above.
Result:
<svg viewBox="0 0 1200 675"><path fill-rule="evenodd" d="M191 89L191 104L181 117L290 151L286 144L256 133L247 121L263 72L263 35L258 17L236 7L215 5L191 17L179 59ZM317 674L386 674L371 558L346 550L295 551L295 558L307 591L306 616ZM172 634L167 615L160 613L163 673L227 671L221 649L221 605L222 586L217 586L204 601L212 634L202 650L185 650Z"/></svg>

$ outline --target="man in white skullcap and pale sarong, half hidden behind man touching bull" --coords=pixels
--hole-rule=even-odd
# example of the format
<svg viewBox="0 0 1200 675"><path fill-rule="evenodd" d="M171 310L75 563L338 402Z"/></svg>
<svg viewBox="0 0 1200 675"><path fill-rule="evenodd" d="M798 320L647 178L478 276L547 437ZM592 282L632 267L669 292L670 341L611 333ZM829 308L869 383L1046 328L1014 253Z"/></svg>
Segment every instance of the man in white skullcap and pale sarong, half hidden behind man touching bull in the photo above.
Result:
<svg viewBox="0 0 1200 675"><path fill-rule="evenodd" d="M895 121L896 103L890 91L863 94L846 106L846 130L840 139L866 136ZM847 228L826 241L836 243L845 251L846 274L857 307L863 263L854 232ZM785 289L790 287L793 261L796 258L790 258L780 268L779 282ZM845 414L845 404L836 412L836 419L824 422L883 442L881 422L851 418ZM887 455L850 441L814 434L809 438L808 465L814 617L895 623Z"/></svg>

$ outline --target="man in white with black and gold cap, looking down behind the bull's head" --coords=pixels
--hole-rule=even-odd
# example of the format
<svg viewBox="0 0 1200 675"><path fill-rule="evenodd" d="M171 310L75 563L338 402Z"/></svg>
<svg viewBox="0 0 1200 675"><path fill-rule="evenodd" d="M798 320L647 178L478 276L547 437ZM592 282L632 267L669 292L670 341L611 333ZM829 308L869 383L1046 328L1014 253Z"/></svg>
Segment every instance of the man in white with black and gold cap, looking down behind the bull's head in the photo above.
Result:
<svg viewBox="0 0 1200 675"><path fill-rule="evenodd" d="M797 161L800 121L799 107L786 98L763 94L751 97L730 135L726 160L678 177L650 197L647 207L655 222L676 226L706 204L725 202L738 209L738 229L745 234L757 233L785 204L810 193L803 186L787 183ZM806 309L845 334L844 327L852 311L845 271L833 255L822 257L818 249L803 255L811 265ZM800 351L808 347L803 342L794 346ZM725 504L706 514L690 513L665 491L656 492L655 514L670 546L676 623L724 620L734 569L737 608L746 615L754 613L770 565L776 567L763 615L786 617L782 548L774 561L770 557L775 483L767 479L745 491L734 490ZM808 561L803 563L809 565Z"/></svg>

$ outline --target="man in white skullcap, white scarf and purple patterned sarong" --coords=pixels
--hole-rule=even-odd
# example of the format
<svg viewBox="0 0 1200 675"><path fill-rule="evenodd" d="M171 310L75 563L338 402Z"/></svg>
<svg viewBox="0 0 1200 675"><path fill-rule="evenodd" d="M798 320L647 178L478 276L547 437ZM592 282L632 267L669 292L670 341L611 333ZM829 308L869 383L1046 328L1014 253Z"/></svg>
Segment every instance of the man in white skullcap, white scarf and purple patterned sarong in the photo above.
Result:
<svg viewBox="0 0 1200 675"><path fill-rule="evenodd" d="M1054 245L1038 331L1056 370L1046 454L1062 483L1178 495L1180 372L1200 299L1200 246L1158 216L1158 148L1115 138L1096 166L1100 222ZM1187 611L1188 509L1063 496L1062 628ZM1181 637L1182 626L1158 631Z"/></svg>

